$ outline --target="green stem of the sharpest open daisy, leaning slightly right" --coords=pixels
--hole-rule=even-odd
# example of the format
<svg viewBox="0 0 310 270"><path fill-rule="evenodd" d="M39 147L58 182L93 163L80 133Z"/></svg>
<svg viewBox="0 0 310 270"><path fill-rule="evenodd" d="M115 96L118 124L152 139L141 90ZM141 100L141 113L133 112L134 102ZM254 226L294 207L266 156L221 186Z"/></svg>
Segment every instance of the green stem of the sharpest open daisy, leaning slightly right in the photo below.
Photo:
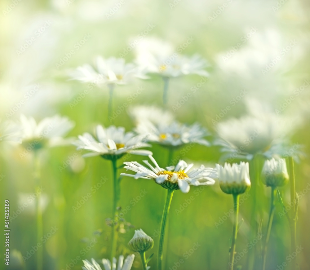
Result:
<svg viewBox="0 0 310 270"><path fill-rule="evenodd" d="M164 247L164 240L165 240L165 229L166 229L166 222L168 219L169 209L172 201L174 190L167 189L167 196L164 206L164 211L162 213L162 223L160 225L160 233L159 233L159 245L158 245L158 253L157 253L157 270L163 270L162 267L162 258L163 258L163 247Z"/></svg>

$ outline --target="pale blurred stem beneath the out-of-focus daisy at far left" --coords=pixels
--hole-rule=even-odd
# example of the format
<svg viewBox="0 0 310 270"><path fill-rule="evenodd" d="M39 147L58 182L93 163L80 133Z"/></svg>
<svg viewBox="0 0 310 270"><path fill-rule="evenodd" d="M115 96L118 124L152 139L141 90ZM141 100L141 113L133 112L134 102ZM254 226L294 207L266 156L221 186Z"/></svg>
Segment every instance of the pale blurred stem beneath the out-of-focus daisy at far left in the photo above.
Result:
<svg viewBox="0 0 310 270"><path fill-rule="evenodd" d="M41 166L38 150L34 150L34 174L36 180L36 212L37 212L37 243L41 242L43 235L43 219L42 219L42 207L41 207ZM37 270L43 269L43 247L38 248L37 251Z"/></svg>

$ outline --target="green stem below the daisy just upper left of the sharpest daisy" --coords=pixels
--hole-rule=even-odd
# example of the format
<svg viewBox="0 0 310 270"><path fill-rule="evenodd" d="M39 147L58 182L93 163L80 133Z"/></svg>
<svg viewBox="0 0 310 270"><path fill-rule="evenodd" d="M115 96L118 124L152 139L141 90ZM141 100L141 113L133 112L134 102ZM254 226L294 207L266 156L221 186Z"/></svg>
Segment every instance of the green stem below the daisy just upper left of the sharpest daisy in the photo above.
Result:
<svg viewBox="0 0 310 270"><path fill-rule="evenodd" d="M111 262L116 254L117 249L117 222L116 219L116 208L117 208L117 198L119 191L119 183L117 179L117 159L112 159L112 170L113 170L113 209L112 209L112 246L111 246Z"/></svg>

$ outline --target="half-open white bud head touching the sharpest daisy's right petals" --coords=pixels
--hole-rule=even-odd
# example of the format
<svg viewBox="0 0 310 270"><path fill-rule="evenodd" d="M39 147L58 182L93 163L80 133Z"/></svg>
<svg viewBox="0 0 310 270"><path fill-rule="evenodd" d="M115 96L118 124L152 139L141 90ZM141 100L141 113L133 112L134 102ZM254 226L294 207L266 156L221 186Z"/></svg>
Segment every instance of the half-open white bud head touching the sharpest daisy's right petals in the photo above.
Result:
<svg viewBox="0 0 310 270"><path fill-rule="evenodd" d="M224 193L241 194L250 188L249 163L225 163L224 167L216 164L219 175L219 186Z"/></svg>

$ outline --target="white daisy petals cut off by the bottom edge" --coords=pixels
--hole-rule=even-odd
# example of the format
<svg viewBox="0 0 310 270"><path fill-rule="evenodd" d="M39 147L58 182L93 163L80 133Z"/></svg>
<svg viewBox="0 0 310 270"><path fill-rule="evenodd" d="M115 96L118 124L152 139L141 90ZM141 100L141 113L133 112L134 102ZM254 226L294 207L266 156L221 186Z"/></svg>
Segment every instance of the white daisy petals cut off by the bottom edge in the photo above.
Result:
<svg viewBox="0 0 310 270"><path fill-rule="evenodd" d="M135 255L128 255L124 261L124 256L120 255L118 258L118 263L116 258L113 258L113 263L111 266L111 262L108 259L102 259L102 264L104 266L104 270L130 270L131 266L134 262ZM88 260L83 260L84 266L82 266L83 270L102 270L99 263L97 263L94 259L91 259L91 262ZM116 267L117 264L117 267Z"/></svg>

